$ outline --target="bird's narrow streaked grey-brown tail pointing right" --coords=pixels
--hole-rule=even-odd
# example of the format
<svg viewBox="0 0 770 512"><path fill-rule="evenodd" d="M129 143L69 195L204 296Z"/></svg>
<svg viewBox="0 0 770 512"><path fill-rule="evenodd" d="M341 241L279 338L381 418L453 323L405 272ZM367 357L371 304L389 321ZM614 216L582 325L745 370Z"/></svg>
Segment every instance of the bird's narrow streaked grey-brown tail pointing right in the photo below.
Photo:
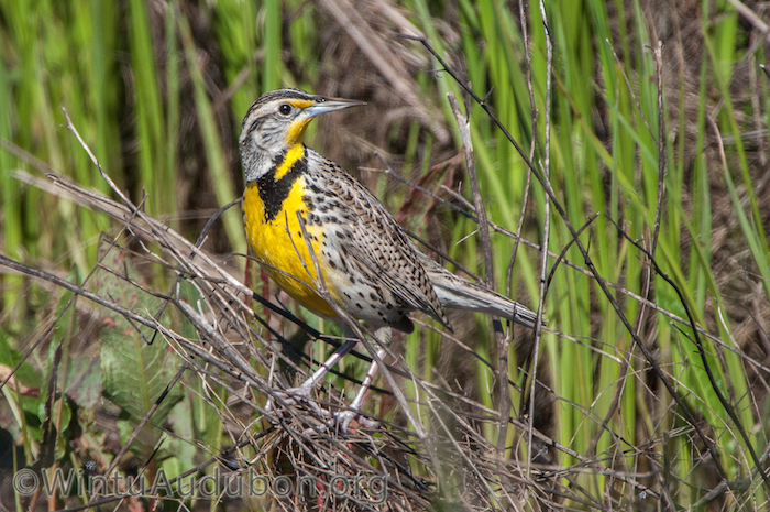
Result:
<svg viewBox="0 0 770 512"><path fill-rule="evenodd" d="M496 315L535 328L537 313L514 302L490 288L458 277L437 262L422 258L422 266L428 272L436 294L441 305L450 309L468 309L472 312Z"/></svg>

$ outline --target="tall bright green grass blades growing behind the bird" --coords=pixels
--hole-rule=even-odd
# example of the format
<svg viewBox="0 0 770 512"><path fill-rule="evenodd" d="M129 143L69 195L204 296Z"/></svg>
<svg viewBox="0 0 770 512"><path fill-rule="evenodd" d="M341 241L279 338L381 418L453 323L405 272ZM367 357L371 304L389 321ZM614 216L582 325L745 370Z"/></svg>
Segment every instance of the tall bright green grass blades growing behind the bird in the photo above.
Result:
<svg viewBox="0 0 770 512"><path fill-rule="evenodd" d="M713 187L718 183L724 184L732 204L732 210L721 215L735 219L730 247L744 251L740 279L761 287L757 311L760 316L766 313L770 301L767 215L762 210L762 190L752 183L758 167L745 145L744 133L750 128L745 121L748 116L756 115L766 122L767 113L749 112L746 98L734 98L732 87L736 80L735 63L749 57L761 62L763 46L751 46L755 54L748 55L743 41L748 36L747 29L738 13L728 2L704 0L697 12L704 47L697 91L693 95L685 88L683 68L673 62L676 53L672 39L663 58L673 73L667 75L664 102L659 105L657 79L661 69L651 50L657 46L656 34L650 31L656 24L651 17L663 13L651 12L640 1L612 2L613 14L608 2L600 0L546 3L556 55L551 91L544 89L547 41L537 3L527 6L526 41L518 11L506 2L405 0L400 7L436 52L454 63L472 89L486 98L520 146L529 150L534 144L532 162L538 170L544 160L548 127L550 183L566 210L566 219L561 219L551 209L548 247L558 254L571 243L564 220L580 228L598 213L581 241L588 248L597 273L617 285L612 298L620 305L636 334L654 355L654 362L663 369L663 378L675 390L675 396L671 396L661 385L660 375L651 371L651 361L635 345L634 336L596 280L566 264L586 268L583 254L572 244L543 298L549 329L541 339L538 375L548 385L552 400L549 436L554 445L566 447L551 450L550 461L571 468L587 459L594 470L569 473L560 480L561 484L580 487L582 493L606 505L653 509L651 502L638 497L638 490L617 490L625 484L612 476L618 471L634 475L659 493L660 482L666 482L666 493L673 504L686 508L715 487L703 482L703 476L711 478L715 470L702 460L706 442L692 431L685 408L693 412L708 434L708 443L715 444L718 462L729 479L752 475L756 468L747 455L749 445L760 454L767 445L762 424L767 413L758 405L765 392L757 395L747 377L758 374L763 380L766 369L747 360L749 353L758 359L750 348L757 340L739 339L737 323L750 320L727 314L736 298L723 290L726 270L715 269L712 251L717 199ZM208 34L213 40L207 46L218 48L218 53L207 56L216 56L222 72L221 83L213 84L201 65L200 42L196 40L193 20L187 19L188 11L176 1L150 6L152 9L142 0L0 0L0 36L9 43L0 50L0 139L7 149L0 151L3 254L65 270L96 264L99 235L110 227L106 216L26 187L13 174L18 168L36 171L34 160L9 151L10 144L86 187L108 192L87 155L62 128L61 107L67 109L107 173L121 187L133 187L130 192L138 201L146 193L146 211L158 218L170 216L170 226L178 228L174 214L182 204L178 190L185 188L180 186L184 159L178 153L183 105L194 109L193 119L201 133L200 155L208 173L204 183L210 184L216 201L226 205L240 195L231 179L233 171L240 172L239 161L231 157L233 148L226 146L226 142L237 139L249 105L261 92L280 86L314 89L321 67L329 65L324 58L331 58L327 48L319 45L322 32L331 29L318 20L339 30L330 18L323 18L329 14L321 4L300 0L224 0L216 6L200 6L200 15L208 20ZM451 26L444 26L440 20L450 20ZM457 37L448 37L449 32ZM386 35L396 37L395 32ZM353 43L346 44L355 51ZM417 43L409 48L420 58L428 58ZM363 54L361 58L365 58ZM439 65L436 59L427 62L430 64L425 69L405 78L415 84L426 104L442 113L460 150L446 95L462 97L462 89L449 74L429 73ZM527 83L527 63L531 84ZM759 81L759 90L750 94L757 94L758 105L765 109L767 87ZM536 123L530 116L530 86L539 112ZM383 87L388 87L386 80ZM191 102L185 101L184 90L193 91ZM718 101L713 98L714 90ZM553 109L546 122L549 94ZM222 101L227 101L233 119L230 127L218 123L215 116ZM495 225L516 231L529 170L492 119L479 106L470 105L468 113L487 215ZM663 129L658 122L661 111ZM693 111L696 115L690 118ZM360 115L367 112L362 109ZM221 137L227 130L230 139ZM403 174L409 176L414 168L416 174L426 175L436 163L431 156L433 144L438 143L428 128L417 121L400 130L407 141ZM685 132L693 130L694 141L689 141ZM362 137L365 139L366 134ZM312 131L309 139L316 146L327 140ZM722 156L714 141L726 139L732 143L718 144L724 150ZM663 154L659 154L660 148ZM689 160L690 154L695 156ZM666 174L660 189L662 165ZM537 244L542 242L546 195L536 181L531 183L524 238ZM380 184L375 192L381 195L392 189L385 181ZM470 199L468 184L463 184L462 193ZM402 194L403 189L389 195L388 206L398 207L393 203ZM245 253L237 208L224 214L222 226L232 252ZM469 237L477 228L472 219L455 216L447 246L451 258L483 273L480 239ZM652 257L670 282L651 270L647 255L631 240L647 250L656 248ZM537 305L539 251L518 246L508 283L507 269L516 242L499 232L493 232L492 242L494 275L490 277L496 290L510 287L520 301ZM237 261L240 264L242 260ZM549 265L554 262L551 258ZM22 351L30 324L43 315L43 308L30 298L30 287L34 286L15 275L2 276L0 327L14 350ZM698 338L686 322L642 305L634 298L637 296L679 318L686 319L689 311L712 337ZM496 364L499 355L488 319L477 316L475 328L474 339L463 341ZM526 366L528 355L517 351L516 341L509 353L509 378L514 384L508 386L510 415L525 418L527 411L520 410L519 404L532 400L528 396L532 367ZM437 381L440 375L436 367L444 344L447 340L440 335L418 329L406 339L405 362L422 379ZM322 353L316 356L320 358ZM364 364L352 366L354 373L363 373ZM476 400L494 408L499 399L494 391L498 389L494 383L497 374L483 362L475 363L475 368ZM50 374L51 368L47 370ZM712 379L716 379L717 389ZM525 384L527 388L522 388ZM407 384L407 391L411 399L425 399L416 385ZM219 447L228 440L227 434L217 414L204 404L199 401L190 405L197 422L190 431L200 434L207 446ZM378 412L392 414L384 407ZM417 402L413 407L415 413L425 412ZM730 416L728 410L736 414ZM430 427L429 415L418 417L426 428ZM495 444L496 418L481 418L479 425L485 438ZM29 427L15 428L13 432L22 433ZM747 437L740 435L741 429L748 433ZM530 451L525 442L521 431L509 429L507 457L526 460ZM660 467L662 461L664 469ZM639 476L648 472L653 476ZM661 472L663 477L656 479L654 475ZM714 479L718 482L719 476ZM721 499L726 500L726 506L762 504L766 492L761 478L754 473L743 488Z"/></svg>

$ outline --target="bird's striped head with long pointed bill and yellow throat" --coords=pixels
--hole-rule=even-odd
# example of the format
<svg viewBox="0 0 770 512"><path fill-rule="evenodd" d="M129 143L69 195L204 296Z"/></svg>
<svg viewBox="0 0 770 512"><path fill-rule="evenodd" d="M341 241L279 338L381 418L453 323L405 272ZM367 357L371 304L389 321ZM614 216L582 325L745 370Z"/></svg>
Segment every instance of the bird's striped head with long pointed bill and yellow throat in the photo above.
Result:
<svg viewBox="0 0 770 512"><path fill-rule="evenodd" d="M246 112L239 139L246 182L265 175L290 149L301 144L312 118L358 105L365 104L310 95L299 89L262 95Z"/></svg>

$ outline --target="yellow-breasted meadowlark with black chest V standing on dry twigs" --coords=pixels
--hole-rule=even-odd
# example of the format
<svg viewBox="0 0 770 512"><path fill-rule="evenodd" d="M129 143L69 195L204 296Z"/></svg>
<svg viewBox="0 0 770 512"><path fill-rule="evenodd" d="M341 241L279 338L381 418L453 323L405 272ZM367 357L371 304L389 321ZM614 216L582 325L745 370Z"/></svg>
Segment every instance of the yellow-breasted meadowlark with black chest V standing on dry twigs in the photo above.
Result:
<svg viewBox="0 0 770 512"><path fill-rule="evenodd" d="M243 218L251 250L267 274L306 308L339 322L334 308L311 284L318 275L310 246L331 299L365 320L381 342L389 338L389 328L414 329L410 312L424 312L449 325L444 307L494 314L534 327L536 314L528 308L458 277L422 254L372 193L302 143L314 117L359 105L365 104L280 89L263 95L246 112L239 140L246 181ZM328 369L354 346L355 341L343 344L290 391L309 396ZM361 406L375 371L373 366L353 411ZM343 427L352 417L344 416Z"/></svg>

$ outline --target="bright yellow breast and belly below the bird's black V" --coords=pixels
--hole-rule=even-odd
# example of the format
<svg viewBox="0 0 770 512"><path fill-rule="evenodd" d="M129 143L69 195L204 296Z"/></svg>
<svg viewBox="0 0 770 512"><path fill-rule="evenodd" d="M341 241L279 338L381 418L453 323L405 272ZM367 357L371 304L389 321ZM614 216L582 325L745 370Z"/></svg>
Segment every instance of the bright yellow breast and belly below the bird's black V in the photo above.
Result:
<svg viewBox="0 0 770 512"><path fill-rule="evenodd" d="M278 178L285 174L286 171L280 173L279 170ZM246 239L254 257L266 263L263 268L282 290L311 312L337 317L334 309L314 291L316 268L297 219L297 211L307 216L307 207L302 200L305 188L305 176L293 179L286 198L279 207L273 206L275 211L266 215L270 208L265 205L265 200L268 199L263 199L264 187L261 195L257 182L250 182L243 194ZM306 222L306 230L316 257L319 263L322 263L319 249L322 228Z"/></svg>

